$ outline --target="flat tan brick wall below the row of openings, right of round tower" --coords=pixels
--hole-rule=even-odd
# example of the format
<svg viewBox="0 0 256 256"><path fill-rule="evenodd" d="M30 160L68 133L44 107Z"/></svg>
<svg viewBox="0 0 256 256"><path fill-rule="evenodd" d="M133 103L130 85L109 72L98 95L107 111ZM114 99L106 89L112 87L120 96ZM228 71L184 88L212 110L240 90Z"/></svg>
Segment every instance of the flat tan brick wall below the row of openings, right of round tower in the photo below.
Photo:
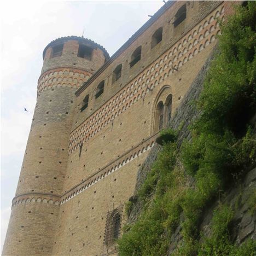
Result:
<svg viewBox="0 0 256 256"><path fill-rule="evenodd" d="M91 113L91 108L97 106L91 100L94 96L91 95L90 86L97 86L104 75L107 79L109 70L106 69L102 77L96 78L77 97L77 109L80 109L79 104L88 93L91 102L84 112L77 110L73 121L75 127L79 120L83 120L70 136L68 167L60 206L63 215L55 236L54 253L103 255L114 250L114 246L106 246L102 238L107 213L123 205L133 195L133 182L136 181L139 165L154 145L155 102L167 85L168 90L164 90L161 97L172 94L174 113L216 43L215 36L219 29L214 18L223 14L223 5L219 5L109 100L109 91L106 94L104 91L95 100L100 101L102 97L102 106L93 114L87 114L88 118L86 110ZM127 56L124 53L121 57L125 59ZM123 82L123 78L120 79ZM109 84L105 86L106 90L110 90L107 87ZM118 177L118 186L111 187L115 177ZM112 201L112 193L118 201ZM81 214L82 220L79 217Z"/></svg>

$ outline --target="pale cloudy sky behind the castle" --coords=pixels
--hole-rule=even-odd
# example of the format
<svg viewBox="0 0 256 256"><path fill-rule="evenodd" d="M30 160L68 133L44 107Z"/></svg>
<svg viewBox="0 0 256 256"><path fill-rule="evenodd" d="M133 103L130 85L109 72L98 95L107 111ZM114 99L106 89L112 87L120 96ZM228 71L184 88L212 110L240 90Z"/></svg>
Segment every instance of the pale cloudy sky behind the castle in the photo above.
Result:
<svg viewBox="0 0 256 256"><path fill-rule="evenodd" d="M82 36L84 30L85 38L103 45L111 56L163 4L162 0L1 1L1 251L45 46L59 37Z"/></svg>

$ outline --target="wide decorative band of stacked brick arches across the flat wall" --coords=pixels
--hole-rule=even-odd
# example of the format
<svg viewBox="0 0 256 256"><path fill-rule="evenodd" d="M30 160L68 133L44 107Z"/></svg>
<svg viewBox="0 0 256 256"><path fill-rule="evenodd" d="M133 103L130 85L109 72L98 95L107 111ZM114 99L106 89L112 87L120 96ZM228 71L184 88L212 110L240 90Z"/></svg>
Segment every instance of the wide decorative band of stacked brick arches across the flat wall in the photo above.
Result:
<svg viewBox="0 0 256 256"><path fill-rule="evenodd" d="M220 16L220 17L219 17ZM153 90L159 83L164 81L177 68L182 67L186 62L200 53L204 48L214 42L218 30L216 18L224 19L224 7L220 5L215 14L208 15L197 25L193 32L188 32L176 44L174 44L158 60L148 66L138 78L132 80L125 88L121 89L106 104L99 108L90 118L86 119L74 131L69 139L69 151L71 154L79 148L79 145L88 141L103 127L112 122L118 115L123 113L133 103ZM175 70L176 69L176 70Z"/></svg>

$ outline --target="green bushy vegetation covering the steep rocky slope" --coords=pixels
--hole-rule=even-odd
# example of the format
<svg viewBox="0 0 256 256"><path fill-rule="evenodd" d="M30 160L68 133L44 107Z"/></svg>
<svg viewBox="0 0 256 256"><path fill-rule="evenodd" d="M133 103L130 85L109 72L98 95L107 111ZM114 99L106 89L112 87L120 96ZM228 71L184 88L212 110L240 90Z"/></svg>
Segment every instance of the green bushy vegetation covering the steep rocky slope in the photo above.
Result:
<svg viewBox="0 0 256 256"><path fill-rule="evenodd" d="M255 242L240 247L230 237L233 210L219 204L211 235L200 232L203 212L256 165L256 2L237 7L220 24L219 54L213 60L190 126L192 139L177 147L177 133L163 142L141 189L143 209L118 241L120 255L166 255L181 226L182 241L173 255L253 255ZM178 136L178 135L177 135ZM255 198L255 196L252 196ZM253 203L252 203L253 205ZM254 208L253 208L254 207ZM251 207L254 211L255 206ZM179 231L179 230L178 230Z"/></svg>

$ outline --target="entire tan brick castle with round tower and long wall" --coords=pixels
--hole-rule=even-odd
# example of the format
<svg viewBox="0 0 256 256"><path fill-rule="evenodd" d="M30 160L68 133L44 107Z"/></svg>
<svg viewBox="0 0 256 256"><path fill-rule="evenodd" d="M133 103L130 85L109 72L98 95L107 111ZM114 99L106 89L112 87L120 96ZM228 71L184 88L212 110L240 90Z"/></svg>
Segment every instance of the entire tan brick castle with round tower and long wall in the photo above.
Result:
<svg viewBox="0 0 256 256"><path fill-rule="evenodd" d="M3 255L118 254L139 166L231 11L166 2L112 57L83 37L46 46Z"/></svg>

